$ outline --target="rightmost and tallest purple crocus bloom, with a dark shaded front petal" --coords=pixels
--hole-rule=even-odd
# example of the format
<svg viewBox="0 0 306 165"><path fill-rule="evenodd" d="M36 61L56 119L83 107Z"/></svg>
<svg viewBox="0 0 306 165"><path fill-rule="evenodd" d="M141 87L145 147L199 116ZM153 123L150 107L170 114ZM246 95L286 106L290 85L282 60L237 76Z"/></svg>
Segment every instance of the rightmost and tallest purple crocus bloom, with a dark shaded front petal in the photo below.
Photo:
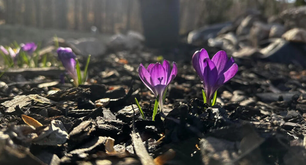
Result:
<svg viewBox="0 0 306 165"><path fill-rule="evenodd" d="M203 82L207 103L215 91L232 79L238 71L233 57L229 60L225 51L217 52L212 59L209 59L205 49L196 51L192 56L192 65Z"/></svg>

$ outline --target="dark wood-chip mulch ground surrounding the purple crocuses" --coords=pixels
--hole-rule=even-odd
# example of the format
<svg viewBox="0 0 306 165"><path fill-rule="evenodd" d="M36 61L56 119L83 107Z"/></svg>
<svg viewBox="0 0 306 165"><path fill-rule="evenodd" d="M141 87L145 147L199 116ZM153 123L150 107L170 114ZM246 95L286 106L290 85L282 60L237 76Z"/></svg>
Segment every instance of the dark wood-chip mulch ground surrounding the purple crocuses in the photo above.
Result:
<svg viewBox="0 0 306 165"><path fill-rule="evenodd" d="M218 89L217 105L208 107L191 64L196 50L181 45L107 52L91 59L88 82L79 87L56 83L57 71L4 74L0 164L304 164L306 71L235 58L237 75ZM155 97L137 70L158 56L175 61L178 74L164 112L152 121ZM100 101L105 107L97 107L103 98L109 98ZM30 127L21 115L43 126Z"/></svg>

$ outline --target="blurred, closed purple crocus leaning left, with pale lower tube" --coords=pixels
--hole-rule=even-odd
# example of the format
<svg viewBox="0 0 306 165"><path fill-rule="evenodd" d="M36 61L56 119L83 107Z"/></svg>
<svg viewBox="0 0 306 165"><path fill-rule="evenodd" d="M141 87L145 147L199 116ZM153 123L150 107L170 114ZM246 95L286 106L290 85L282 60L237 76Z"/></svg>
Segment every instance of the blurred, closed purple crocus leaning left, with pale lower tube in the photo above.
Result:
<svg viewBox="0 0 306 165"><path fill-rule="evenodd" d="M67 73L73 79L75 86L78 86L78 76L76 73L76 55L72 52L71 48L59 47L57 50L58 58L62 61Z"/></svg>

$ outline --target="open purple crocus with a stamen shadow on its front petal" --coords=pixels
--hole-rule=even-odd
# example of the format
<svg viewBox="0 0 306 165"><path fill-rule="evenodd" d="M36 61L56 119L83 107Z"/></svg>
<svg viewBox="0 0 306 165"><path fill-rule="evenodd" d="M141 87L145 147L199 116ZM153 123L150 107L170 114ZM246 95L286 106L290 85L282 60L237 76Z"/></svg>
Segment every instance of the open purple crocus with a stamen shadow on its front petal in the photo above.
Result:
<svg viewBox="0 0 306 165"><path fill-rule="evenodd" d="M153 92L155 97L159 96L159 109L162 111L162 97L166 87L177 75L177 65L173 62L172 70L167 60L162 64L150 64L147 69L143 64L138 68L139 77L142 82Z"/></svg>

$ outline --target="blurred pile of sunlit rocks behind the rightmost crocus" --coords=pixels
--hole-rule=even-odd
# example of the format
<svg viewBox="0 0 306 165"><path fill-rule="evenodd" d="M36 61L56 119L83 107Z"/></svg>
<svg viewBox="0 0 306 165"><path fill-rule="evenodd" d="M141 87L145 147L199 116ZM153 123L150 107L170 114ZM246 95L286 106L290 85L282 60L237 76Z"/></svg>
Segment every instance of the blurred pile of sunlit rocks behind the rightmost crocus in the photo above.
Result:
<svg viewBox="0 0 306 165"><path fill-rule="evenodd" d="M233 57L306 66L306 6L290 8L269 18L249 11L233 22L191 31L188 43L208 44Z"/></svg>

